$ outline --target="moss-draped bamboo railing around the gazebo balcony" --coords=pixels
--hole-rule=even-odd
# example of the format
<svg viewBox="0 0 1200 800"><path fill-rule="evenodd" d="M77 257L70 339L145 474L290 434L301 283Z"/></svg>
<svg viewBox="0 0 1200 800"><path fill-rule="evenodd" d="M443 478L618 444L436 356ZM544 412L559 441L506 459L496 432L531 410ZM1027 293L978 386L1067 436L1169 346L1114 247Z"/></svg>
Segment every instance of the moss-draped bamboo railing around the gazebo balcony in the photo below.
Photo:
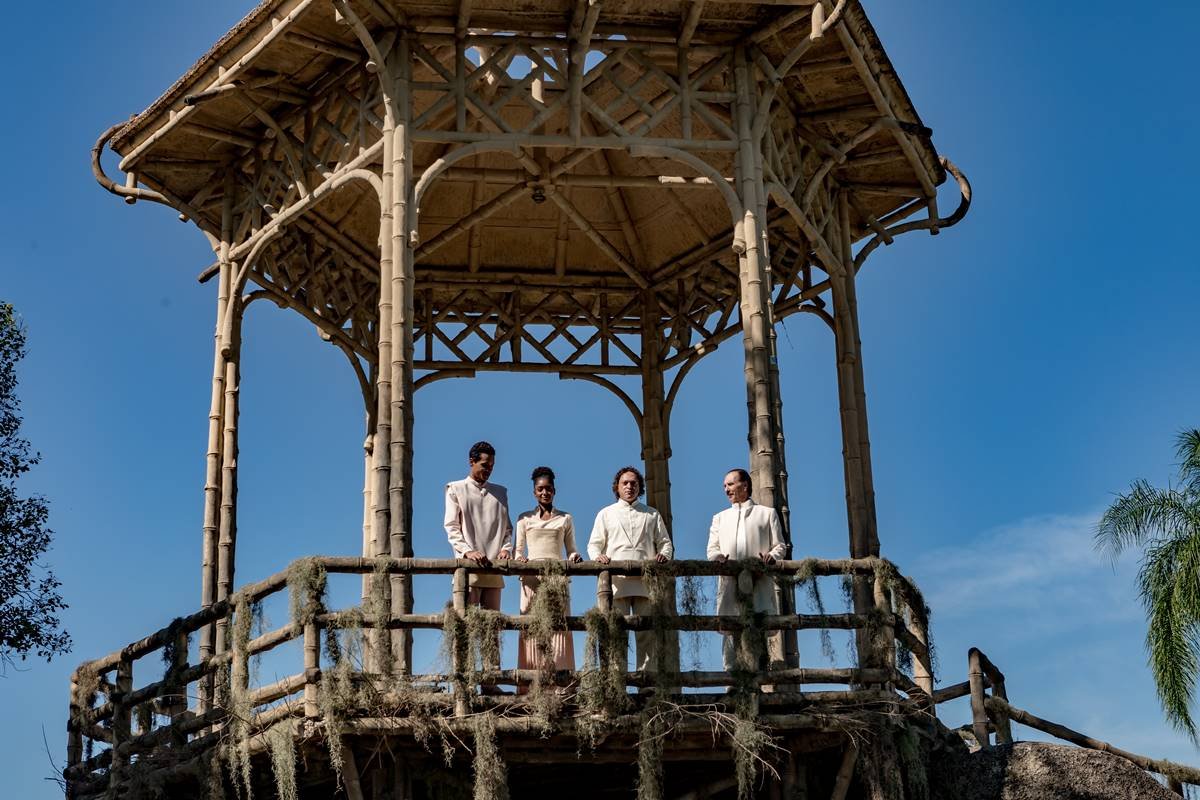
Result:
<svg viewBox="0 0 1200 800"><path fill-rule="evenodd" d="M326 575L390 575L390 576L431 576L443 575L449 578L448 593L451 603L448 614L464 614L466 587L470 573L500 573L508 576L542 573L544 564L529 561L518 564L493 565L479 567L472 561L454 559L367 559L320 557L307 559L311 565L319 565ZM902 703L914 710L931 712L935 705L932 682L932 663L926 642L929 640L925 621L922 614L895 613L895 608L917 606L916 588L900 577L895 567L882 559L806 559L803 561L779 561L772 566L761 563L715 563L715 561L672 561L659 566L642 561L612 561L599 564L583 561L578 564L554 563L569 579L595 577L598 608L611 608L613 576L658 575L674 582L691 576L737 576L742 571L778 575L794 578L804 577L852 576L874 587L875 607L870 613L839 614L755 614L754 621L737 615L715 614L678 614L673 609L659 618L648 615L625 615L620 619L625 631L666 630L671 634L690 631L736 632L748 624L760 627L764 633L772 631L796 630L845 630L866 632L874 652L860 652L857 667L846 668L764 668L750 681L762 706L761 720L778 729L804 729L821 723L820 715L799 714L798 706L838 702L886 700ZM290 567L289 567L290 569ZM197 663L188 663L187 642L193 633L202 633L202 642L211 640L214 627L234 628L234 612L244 613L254 603L288 589L289 570L283 570L257 583L242 587L240 591L214 602L210 607L188 616L176 619L169 626L132 642L126 646L101 658L85 662L72 675L71 708L67 722L67 766L64 775L71 788L72 796L85 796L103 792L120 783L131 760L152 758L156 754L170 753L169 760L175 766L192 757L200 756L221 740L223 727L230 718L230 711L217 704L215 682L224 670L232 670L233 681L239 680L241 660L241 678L248 699L252 732L263 732L268 727L288 718L298 718L306 723L319 724L322 664L320 652L324 638L336 630L348 626L391 631L413 631L420 628L443 628L444 614L390 613L388 619L379 620L365 616L360 608L325 610L314 613L300 621L289 621L266 631L248 640L241 649L235 643L212 652L205 648L203 657ZM672 595L673 596L673 595ZM895 603L895 604L893 604ZM923 607L922 607L923 608ZM532 621L528 615L499 616L502 630L521 630ZM566 628L586 630L583 616L568 616ZM386 642L385 637L367 637ZM395 637L391 637L395 638ZM246 685L246 660L269 652L288 642L302 643L302 662L296 664L294 674L286 675L271 684L262 686ZM896 643L908 649L913 655L913 678L896 669ZM155 652L167 650L168 664L166 674L155 680L139 681L134 674L134 662ZM156 664L156 672L162 669ZM451 669L461 670L461 664ZM560 672L553 675L553 681L560 685L572 685L582 670ZM530 682L540 675L535 669L494 669L475 674L476 680L494 685L520 685ZM443 708L446 722L451 727L455 718L462 717L469 705L520 705L526 702L516 697L466 696L462 674L406 674L413 686L427 688L434 705ZM733 686L744 676L736 679L728 672L682 670L671 675L672 691L682 688L706 690ZM646 672L625 672L623 681L626 688L642 688L654 685L655 676ZM803 691L806 685L842 685L842 690ZM764 690L766 687L766 690ZM689 692L685 694L691 703L720 703L724 693ZM134 721L140 720L139 724ZM508 728L524 729L529 726L522 718L502 720ZM564 730L571 728L571 720L564 720ZM522 727L524 726L524 728ZM403 732L403 718L359 718L352 726L356 733ZM90 744L85 746L85 742ZM98 745L100 752L92 753ZM252 747L259 745L253 745ZM86 751L86 752L85 752Z"/></svg>

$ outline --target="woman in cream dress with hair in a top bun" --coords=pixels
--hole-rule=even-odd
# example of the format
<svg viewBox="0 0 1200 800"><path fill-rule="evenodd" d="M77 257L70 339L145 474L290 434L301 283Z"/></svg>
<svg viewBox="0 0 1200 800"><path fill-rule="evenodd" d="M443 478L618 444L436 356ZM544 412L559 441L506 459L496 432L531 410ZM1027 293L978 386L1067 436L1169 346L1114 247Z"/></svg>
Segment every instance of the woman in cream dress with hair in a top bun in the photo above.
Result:
<svg viewBox="0 0 1200 800"><path fill-rule="evenodd" d="M583 557L575 549L575 522L571 515L554 507L554 470L539 467L533 470L533 497L538 507L526 511L517 518L516 559L556 559L564 557L568 561L582 561ZM538 593L538 576L521 577L521 613L527 614ZM570 631L558 631L552 640L554 669L575 669L575 648L571 644ZM517 639L517 668L540 669L544 666L538 656L538 644L527 638L524 631ZM522 686L521 691L528 687Z"/></svg>

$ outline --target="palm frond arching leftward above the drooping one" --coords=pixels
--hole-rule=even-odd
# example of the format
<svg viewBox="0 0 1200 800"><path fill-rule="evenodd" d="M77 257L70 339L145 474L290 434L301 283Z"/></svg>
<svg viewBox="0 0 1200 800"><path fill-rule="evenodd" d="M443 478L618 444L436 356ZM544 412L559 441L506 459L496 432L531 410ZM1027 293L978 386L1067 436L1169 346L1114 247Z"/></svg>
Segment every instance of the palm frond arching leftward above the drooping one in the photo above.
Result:
<svg viewBox="0 0 1200 800"><path fill-rule="evenodd" d="M1177 530L1194 527L1196 503L1176 489L1159 489L1148 481L1134 481L1118 494L1096 525L1096 548L1116 558L1128 547L1171 537Z"/></svg>

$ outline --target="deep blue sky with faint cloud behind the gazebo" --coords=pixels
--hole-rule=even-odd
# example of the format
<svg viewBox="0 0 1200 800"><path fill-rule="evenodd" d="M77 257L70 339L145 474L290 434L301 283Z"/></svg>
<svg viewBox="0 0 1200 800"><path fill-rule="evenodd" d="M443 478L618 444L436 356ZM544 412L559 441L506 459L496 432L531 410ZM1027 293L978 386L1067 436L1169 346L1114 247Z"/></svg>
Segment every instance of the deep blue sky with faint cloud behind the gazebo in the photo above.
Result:
<svg viewBox="0 0 1200 800"><path fill-rule="evenodd" d="M1006 670L1014 704L1200 763L1162 722L1135 564L1114 569L1091 551L1112 493L1135 477L1165 482L1175 432L1200 426L1200 270L1186 222L1200 179L1187 79L1200 12L864 5L935 143L976 190L958 228L898 240L860 276L884 554L926 591L944 682L965 679L966 649L978 645ZM12 796L56 796L41 732L61 762L74 664L197 604L214 297L194 277L211 252L166 209L101 191L88 151L247 8L76 4L53 25L29 4L7 12L22 35L0 53L19 78L0 126L11 180L0 297L29 329L20 396L43 463L25 489L52 501L49 561L76 639L71 656L0 679ZM841 555L832 339L800 315L780 349L797 552ZM702 554L721 474L745 461L740 369L738 348L718 350L677 403L680 555ZM299 318L259 305L242 372L239 582L308 553L355 553L362 419L343 357ZM528 497L533 465L552 464L562 505L584 527L611 497L613 468L637 458L628 411L582 383L443 381L415 409L420 553L445 552L439 486L461 475L475 439L497 445L494 477L515 498ZM426 601L440 604L436 587ZM803 646L821 662L814 643ZM967 721L962 708L944 717Z"/></svg>

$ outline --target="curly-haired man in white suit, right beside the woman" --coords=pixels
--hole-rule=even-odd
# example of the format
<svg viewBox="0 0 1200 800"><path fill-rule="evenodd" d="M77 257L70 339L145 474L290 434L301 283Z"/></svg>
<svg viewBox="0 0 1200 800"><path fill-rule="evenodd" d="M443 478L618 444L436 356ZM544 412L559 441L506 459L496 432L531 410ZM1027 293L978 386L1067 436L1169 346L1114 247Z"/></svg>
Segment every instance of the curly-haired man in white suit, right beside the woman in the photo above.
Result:
<svg viewBox="0 0 1200 800"><path fill-rule="evenodd" d="M671 536L667 534L662 515L638 498L646 493L646 480L634 467L622 467L612 481L612 493L617 501L600 509L592 537L588 539L588 558L600 564L610 561L662 563L674 555ZM612 608L620 614L654 613L649 594L641 578L613 576ZM637 631L634 634L637 669L655 668L654 631Z"/></svg>

